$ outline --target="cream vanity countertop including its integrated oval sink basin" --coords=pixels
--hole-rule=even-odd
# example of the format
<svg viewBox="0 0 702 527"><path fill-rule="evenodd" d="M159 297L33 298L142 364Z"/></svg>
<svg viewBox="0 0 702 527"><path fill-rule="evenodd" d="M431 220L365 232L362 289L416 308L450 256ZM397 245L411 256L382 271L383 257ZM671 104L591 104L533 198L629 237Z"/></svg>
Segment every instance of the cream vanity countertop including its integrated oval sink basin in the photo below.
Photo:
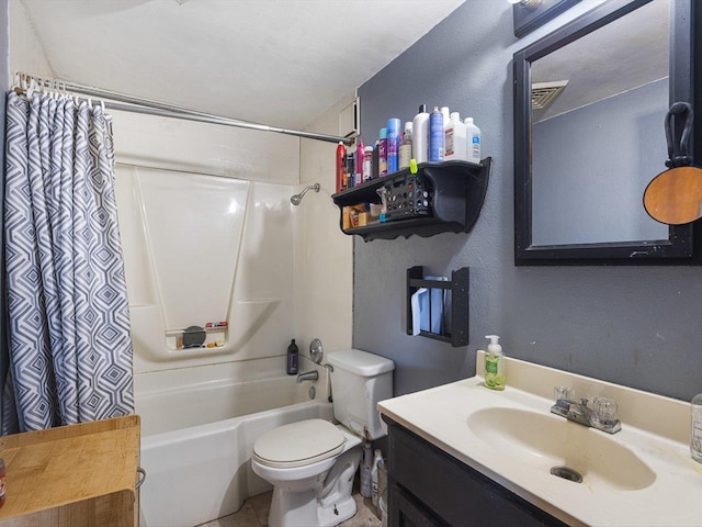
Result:
<svg viewBox="0 0 702 527"><path fill-rule="evenodd" d="M688 403L510 358L507 388L496 392L485 388L484 360L479 351L476 377L378 408L568 525L702 525L702 464L690 458ZM574 388L576 400L615 400L622 430L609 435L551 414L554 386ZM490 414L496 418L486 419ZM569 463L580 464L582 483L550 473Z"/></svg>

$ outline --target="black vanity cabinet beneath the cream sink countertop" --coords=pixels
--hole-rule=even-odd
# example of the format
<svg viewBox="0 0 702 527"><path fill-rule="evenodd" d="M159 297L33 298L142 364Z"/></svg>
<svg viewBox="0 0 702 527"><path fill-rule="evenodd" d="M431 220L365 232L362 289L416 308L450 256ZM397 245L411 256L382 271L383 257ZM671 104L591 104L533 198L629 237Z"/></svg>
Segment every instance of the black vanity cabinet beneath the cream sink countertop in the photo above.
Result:
<svg viewBox="0 0 702 527"><path fill-rule="evenodd" d="M401 425L388 424L390 527L566 526Z"/></svg>

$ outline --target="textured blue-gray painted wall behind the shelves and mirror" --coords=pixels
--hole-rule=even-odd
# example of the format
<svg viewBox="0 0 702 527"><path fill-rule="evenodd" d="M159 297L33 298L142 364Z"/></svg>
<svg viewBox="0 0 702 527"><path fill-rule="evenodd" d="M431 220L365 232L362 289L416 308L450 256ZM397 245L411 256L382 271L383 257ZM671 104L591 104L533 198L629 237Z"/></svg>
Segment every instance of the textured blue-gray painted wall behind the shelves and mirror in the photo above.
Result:
<svg viewBox="0 0 702 527"><path fill-rule="evenodd" d="M473 375L490 333L511 357L682 400L702 392L702 268L513 265L512 55L592 5L518 41L507 2L467 0L359 89L366 143L389 116L445 104L475 117L495 162L469 234L354 239L353 344L396 362L396 394ZM471 267L467 347L406 335L405 272L416 265Z"/></svg>

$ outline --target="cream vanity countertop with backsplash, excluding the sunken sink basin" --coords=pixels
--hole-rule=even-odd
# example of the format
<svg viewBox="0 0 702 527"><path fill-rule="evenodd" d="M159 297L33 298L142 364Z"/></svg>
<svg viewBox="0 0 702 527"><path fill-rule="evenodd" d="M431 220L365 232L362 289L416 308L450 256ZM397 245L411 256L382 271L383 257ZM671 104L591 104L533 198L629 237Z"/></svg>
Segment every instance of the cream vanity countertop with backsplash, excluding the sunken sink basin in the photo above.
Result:
<svg viewBox="0 0 702 527"><path fill-rule="evenodd" d="M689 404L516 359L506 359L503 392L484 385L483 354L478 375L378 403L393 421L476 469L530 503L569 525L702 526L702 464L690 458ZM595 489L566 481L503 448L496 448L468 426L484 408L506 407L550 413L555 385L576 388L576 399L607 396L619 403L622 430L593 428L631 450L653 472L655 481L641 490ZM568 426L581 427L575 423Z"/></svg>

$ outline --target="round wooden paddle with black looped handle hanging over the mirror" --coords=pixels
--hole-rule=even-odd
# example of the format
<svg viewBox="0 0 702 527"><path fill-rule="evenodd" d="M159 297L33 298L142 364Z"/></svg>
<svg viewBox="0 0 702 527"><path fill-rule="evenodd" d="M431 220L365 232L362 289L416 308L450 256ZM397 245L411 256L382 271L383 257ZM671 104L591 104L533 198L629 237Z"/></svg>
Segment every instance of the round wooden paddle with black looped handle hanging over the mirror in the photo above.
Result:
<svg viewBox="0 0 702 527"><path fill-rule="evenodd" d="M644 191L648 215L668 225L684 225L702 217L702 169L692 166L689 155L692 114L692 105L687 102L670 106L665 120L669 169L656 176ZM675 126L676 116L686 119L678 141L673 138L679 130Z"/></svg>

